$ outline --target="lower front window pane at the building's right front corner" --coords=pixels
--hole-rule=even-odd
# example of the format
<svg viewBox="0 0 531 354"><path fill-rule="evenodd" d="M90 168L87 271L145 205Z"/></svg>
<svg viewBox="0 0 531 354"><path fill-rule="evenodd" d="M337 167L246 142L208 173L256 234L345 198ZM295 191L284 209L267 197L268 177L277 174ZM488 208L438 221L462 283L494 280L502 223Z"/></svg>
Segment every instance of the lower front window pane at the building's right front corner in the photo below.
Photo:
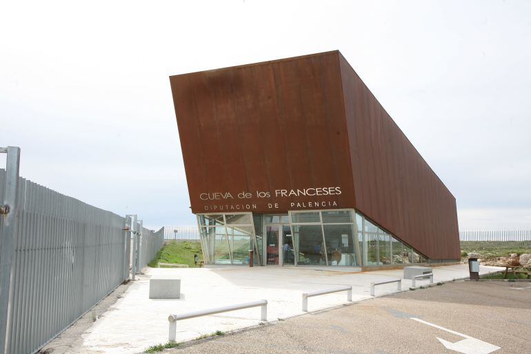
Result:
<svg viewBox="0 0 531 354"><path fill-rule="evenodd" d="M352 239L352 227L352 224L323 225L328 264L331 266L358 265Z"/></svg>

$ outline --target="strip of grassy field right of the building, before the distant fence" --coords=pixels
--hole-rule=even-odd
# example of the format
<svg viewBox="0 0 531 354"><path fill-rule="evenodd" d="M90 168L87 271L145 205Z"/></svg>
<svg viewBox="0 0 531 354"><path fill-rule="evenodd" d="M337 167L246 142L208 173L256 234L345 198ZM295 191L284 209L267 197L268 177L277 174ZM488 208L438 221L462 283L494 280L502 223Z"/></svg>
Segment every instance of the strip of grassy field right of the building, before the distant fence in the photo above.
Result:
<svg viewBox="0 0 531 354"><path fill-rule="evenodd" d="M468 253L480 253L485 259L497 257L509 257L511 253L531 253L531 242L529 241L462 241L461 256L466 257ZM466 255L463 255L466 253Z"/></svg>

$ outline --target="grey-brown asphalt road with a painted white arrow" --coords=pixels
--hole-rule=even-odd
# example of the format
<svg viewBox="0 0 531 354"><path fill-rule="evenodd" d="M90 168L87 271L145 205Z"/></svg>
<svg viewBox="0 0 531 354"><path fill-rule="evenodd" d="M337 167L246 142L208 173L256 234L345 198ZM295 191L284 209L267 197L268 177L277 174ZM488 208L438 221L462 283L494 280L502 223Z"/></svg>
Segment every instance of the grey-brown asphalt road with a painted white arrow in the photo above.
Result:
<svg viewBox="0 0 531 354"><path fill-rule="evenodd" d="M450 282L293 317L165 353L460 352L530 354L531 283Z"/></svg>

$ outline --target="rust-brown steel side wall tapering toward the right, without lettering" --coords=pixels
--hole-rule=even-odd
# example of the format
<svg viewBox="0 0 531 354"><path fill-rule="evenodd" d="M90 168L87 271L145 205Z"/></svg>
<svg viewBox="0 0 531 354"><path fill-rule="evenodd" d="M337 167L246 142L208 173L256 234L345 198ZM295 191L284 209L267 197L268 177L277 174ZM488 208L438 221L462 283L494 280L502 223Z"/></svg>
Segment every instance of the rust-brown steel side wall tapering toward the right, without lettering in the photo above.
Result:
<svg viewBox="0 0 531 354"><path fill-rule="evenodd" d="M339 54L354 208L430 259L460 257L455 198Z"/></svg>

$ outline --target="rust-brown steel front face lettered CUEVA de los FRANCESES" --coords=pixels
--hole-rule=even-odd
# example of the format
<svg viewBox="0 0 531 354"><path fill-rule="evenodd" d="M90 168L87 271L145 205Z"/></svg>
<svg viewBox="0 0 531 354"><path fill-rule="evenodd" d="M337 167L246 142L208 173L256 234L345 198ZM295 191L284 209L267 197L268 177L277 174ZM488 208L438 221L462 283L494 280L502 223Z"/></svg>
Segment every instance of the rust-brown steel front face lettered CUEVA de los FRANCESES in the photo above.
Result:
<svg viewBox="0 0 531 354"><path fill-rule="evenodd" d="M352 208L337 52L170 83L194 213Z"/></svg>

